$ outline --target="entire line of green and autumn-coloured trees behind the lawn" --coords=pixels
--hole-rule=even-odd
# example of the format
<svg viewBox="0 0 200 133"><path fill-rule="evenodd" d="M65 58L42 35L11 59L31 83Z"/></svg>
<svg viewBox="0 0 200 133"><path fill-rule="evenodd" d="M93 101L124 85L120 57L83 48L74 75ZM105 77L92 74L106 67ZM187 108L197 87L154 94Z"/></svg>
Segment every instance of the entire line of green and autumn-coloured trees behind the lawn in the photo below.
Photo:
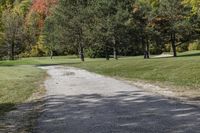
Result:
<svg viewBox="0 0 200 133"><path fill-rule="evenodd" d="M199 45L199 0L3 0L2 55L118 55ZM3 52L5 51L5 52Z"/></svg>

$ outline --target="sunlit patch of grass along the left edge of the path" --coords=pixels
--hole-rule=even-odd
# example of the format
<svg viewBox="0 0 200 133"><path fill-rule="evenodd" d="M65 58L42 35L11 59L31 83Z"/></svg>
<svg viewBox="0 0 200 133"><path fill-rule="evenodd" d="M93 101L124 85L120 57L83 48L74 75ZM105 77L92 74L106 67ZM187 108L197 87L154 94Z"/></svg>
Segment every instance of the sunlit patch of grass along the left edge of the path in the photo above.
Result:
<svg viewBox="0 0 200 133"><path fill-rule="evenodd" d="M34 66L0 66L0 75L0 116L44 92L46 72Z"/></svg>

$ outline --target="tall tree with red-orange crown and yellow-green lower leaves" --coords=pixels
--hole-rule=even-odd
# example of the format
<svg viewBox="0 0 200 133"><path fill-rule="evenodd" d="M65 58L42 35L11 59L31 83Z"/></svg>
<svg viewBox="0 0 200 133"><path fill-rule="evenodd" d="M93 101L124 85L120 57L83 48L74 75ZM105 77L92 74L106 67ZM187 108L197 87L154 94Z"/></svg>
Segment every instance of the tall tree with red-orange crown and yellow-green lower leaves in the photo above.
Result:
<svg viewBox="0 0 200 133"><path fill-rule="evenodd" d="M18 9L27 8L26 1L20 2ZM57 4L58 0L33 0L31 5L29 5L28 10L25 14L25 24L24 28L26 31L26 50L24 55L26 56L41 56L46 53L44 41L41 41L44 38L43 28L46 18L50 15L50 8L54 7ZM26 6L25 6L26 5ZM43 53L43 54L41 54Z"/></svg>

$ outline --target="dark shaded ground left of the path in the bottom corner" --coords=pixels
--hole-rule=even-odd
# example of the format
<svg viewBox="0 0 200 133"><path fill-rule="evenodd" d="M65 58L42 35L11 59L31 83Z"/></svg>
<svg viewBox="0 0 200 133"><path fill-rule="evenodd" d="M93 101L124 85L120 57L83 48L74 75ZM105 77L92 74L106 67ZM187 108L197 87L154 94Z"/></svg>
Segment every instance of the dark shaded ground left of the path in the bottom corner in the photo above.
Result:
<svg viewBox="0 0 200 133"><path fill-rule="evenodd" d="M19 105L1 104L0 133L32 133L42 104L40 100Z"/></svg>

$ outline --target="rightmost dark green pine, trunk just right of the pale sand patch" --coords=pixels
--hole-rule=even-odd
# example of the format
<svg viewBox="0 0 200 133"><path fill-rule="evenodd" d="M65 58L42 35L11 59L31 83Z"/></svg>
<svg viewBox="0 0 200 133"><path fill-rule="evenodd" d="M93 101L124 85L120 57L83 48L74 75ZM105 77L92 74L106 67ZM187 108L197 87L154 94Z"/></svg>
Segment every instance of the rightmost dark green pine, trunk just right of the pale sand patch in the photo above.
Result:
<svg viewBox="0 0 200 133"><path fill-rule="evenodd" d="M190 8L184 6L181 0L160 1L156 23L161 26L160 32L163 33L165 41L171 42L174 57L177 56L177 42L182 44L191 36L191 24L188 21L190 11Z"/></svg>

